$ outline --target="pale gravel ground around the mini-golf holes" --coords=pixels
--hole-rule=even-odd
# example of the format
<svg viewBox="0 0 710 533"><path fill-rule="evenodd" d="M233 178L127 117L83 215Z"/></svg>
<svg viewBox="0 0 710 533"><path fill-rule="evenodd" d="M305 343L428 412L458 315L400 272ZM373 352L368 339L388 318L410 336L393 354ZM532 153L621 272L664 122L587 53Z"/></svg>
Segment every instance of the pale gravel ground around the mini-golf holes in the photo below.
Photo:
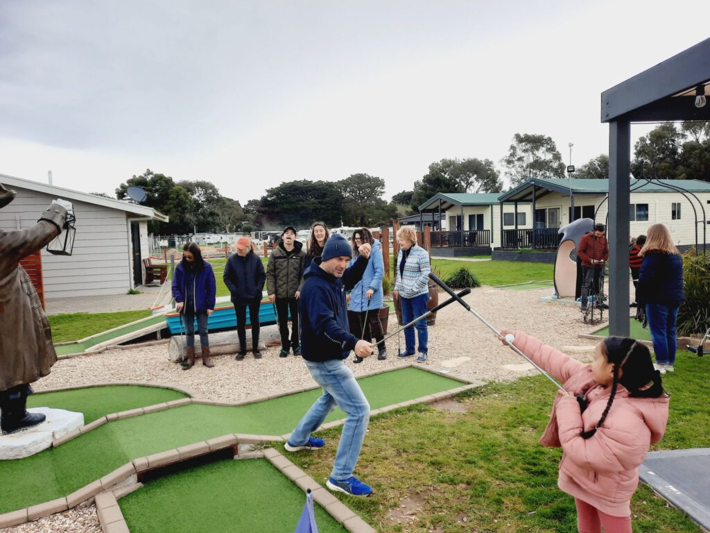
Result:
<svg viewBox="0 0 710 533"><path fill-rule="evenodd" d="M541 302L540 297L550 296L550 292L550 288L508 291L481 287L474 289L465 299L497 328L523 330L580 360L588 361L594 341L579 339L577 335L587 333L591 328L582 323L577 307ZM440 294L439 298L443 296ZM390 331L393 331L395 321L391 315ZM234 337L236 340L236 332ZM403 334L400 339L403 349ZM349 360L348 365L356 375L376 368L401 365L395 357L397 336L388 340L387 350L388 359L385 361L371 357L359 365ZM236 402L314 384L301 358L289 356L281 359L278 348L263 351L261 360L248 355L237 362L232 355L219 355L214 357L214 368L195 365L187 372L169 362L167 354L167 345L155 345L131 350L107 350L98 355L62 360L53 367L48 377L40 379L33 387L39 392L91 382L163 382L187 387L209 399ZM525 360L503 347L486 326L456 304L439 311L436 325L429 329L428 364L437 370L448 368L457 375L483 382L507 381L533 373ZM552 396L552 385L550 387ZM96 508L88 506L7 531L99 533L101 529Z"/></svg>

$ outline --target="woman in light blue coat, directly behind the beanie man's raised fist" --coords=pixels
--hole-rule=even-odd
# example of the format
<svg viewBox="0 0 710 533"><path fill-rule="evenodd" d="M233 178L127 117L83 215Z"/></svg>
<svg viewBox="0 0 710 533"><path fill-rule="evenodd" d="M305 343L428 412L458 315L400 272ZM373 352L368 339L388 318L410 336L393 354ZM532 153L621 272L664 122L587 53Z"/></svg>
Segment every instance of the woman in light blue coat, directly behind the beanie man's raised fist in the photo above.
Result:
<svg viewBox="0 0 710 533"><path fill-rule="evenodd" d="M382 307L382 278L385 275L385 264L382 259L382 248L379 239L372 236L366 227L355 230L352 237L353 258L350 266L359 257L358 249L361 244L372 247L370 262L365 269L362 279L350 291L349 316L351 318L351 331L358 338L371 342L375 338L379 342L385 335L380 322L380 308ZM384 344L378 345L378 360L387 358ZM355 356L355 362L362 362L361 357Z"/></svg>

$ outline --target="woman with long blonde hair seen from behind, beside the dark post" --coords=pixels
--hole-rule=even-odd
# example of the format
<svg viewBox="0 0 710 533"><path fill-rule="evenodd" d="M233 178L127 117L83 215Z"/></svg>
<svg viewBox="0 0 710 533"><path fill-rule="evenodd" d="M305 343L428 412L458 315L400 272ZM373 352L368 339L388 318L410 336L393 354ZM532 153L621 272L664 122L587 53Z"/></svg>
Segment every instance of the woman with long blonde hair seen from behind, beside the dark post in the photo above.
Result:
<svg viewBox="0 0 710 533"><path fill-rule="evenodd" d="M677 346L675 321L685 299L683 258L662 224L648 228L646 242L638 254L643 257L638 275L638 306L646 308L656 369L661 374L673 372Z"/></svg>

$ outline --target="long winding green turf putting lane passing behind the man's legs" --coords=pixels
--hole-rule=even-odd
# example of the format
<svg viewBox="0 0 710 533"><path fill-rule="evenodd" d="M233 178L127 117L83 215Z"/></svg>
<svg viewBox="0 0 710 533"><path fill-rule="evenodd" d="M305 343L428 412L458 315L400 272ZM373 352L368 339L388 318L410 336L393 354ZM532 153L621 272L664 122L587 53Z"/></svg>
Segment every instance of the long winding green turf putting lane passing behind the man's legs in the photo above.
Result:
<svg viewBox="0 0 710 533"><path fill-rule="evenodd" d="M371 409L461 385L454 379L411 367L358 381ZM103 397L106 388L82 389L85 405ZM58 448L24 459L0 461L0 480L13 486L13 490L0 499L0 513L68 495L119 466L151 453L231 433L288 433L320 394L321 390L315 389L237 407L190 404L111 421ZM33 401L38 399L39 395ZM46 405L53 407L50 402ZM344 417L345 414L336 409L327 421Z"/></svg>

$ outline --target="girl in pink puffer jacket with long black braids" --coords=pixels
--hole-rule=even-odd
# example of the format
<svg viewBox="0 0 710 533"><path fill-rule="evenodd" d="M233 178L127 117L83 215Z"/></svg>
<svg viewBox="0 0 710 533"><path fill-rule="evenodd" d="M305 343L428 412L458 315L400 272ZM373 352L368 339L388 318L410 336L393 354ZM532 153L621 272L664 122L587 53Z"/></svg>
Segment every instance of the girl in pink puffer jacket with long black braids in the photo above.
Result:
<svg viewBox="0 0 710 533"><path fill-rule="evenodd" d="M638 466L668 420L668 395L648 348L608 337L596 345L594 362L584 365L525 333L513 334L515 347L567 391L555 398L540 443L562 447L557 486L574 496L579 532L631 533ZM577 394L586 397L584 412Z"/></svg>

